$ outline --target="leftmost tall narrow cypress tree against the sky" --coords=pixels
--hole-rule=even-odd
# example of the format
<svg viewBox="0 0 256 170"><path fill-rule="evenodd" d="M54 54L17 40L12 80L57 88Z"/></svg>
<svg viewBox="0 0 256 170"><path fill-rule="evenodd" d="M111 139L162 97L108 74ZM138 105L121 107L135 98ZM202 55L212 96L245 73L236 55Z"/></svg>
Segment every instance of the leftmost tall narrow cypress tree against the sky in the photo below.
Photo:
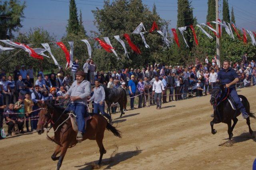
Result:
<svg viewBox="0 0 256 170"><path fill-rule="evenodd" d="M66 27L67 34L78 34L79 32L79 21L77 16L77 8L75 0L69 1L69 19L68 26Z"/></svg>

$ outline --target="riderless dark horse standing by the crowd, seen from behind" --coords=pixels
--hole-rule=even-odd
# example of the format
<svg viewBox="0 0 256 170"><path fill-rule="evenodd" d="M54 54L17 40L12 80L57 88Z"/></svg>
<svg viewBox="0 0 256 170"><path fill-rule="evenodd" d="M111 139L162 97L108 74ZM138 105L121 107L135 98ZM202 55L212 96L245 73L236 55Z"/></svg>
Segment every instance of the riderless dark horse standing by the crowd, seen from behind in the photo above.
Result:
<svg viewBox="0 0 256 170"><path fill-rule="evenodd" d="M120 110L121 110L121 115L124 114L124 109L126 109L126 104L127 104L127 98L126 98L126 91L123 88L116 88L116 89L111 89L111 88L104 88L105 91L105 101L108 105L108 110L107 113L109 112L111 116L111 111L110 111L110 106L112 103L117 103L120 105Z"/></svg>

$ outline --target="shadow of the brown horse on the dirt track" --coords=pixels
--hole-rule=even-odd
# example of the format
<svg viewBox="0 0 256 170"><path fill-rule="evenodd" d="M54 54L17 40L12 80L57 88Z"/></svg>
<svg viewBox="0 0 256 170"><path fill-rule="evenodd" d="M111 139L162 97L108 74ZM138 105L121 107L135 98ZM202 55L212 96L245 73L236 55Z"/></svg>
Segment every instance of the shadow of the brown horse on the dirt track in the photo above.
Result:
<svg viewBox="0 0 256 170"><path fill-rule="evenodd" d="M142 150L134 150L134 151L117 153L110 158L102 159L102 166L107 165L107 167L104 169L111 169L112 166L115 166L115 165L119 164L120 162L128 160L134 156L137 156L141 152L142 152ZM92 170L92 169L94 169L94 166L96 166L97 163L98 163L98 160L93 161L93 162L88 162L88 163L85 163L84 165L79 165L79 166L75 166L75 167L85 166L84 168L81 168L79 170Z"/></svg>

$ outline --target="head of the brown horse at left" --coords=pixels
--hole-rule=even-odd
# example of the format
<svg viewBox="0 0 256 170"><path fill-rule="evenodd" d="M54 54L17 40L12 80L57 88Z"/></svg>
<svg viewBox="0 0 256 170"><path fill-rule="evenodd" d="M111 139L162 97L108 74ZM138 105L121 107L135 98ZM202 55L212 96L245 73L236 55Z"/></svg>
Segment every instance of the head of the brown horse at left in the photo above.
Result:
<svg viewBox="0 0 256 170"><path fill-rule="evenodd" d="M48 128L48 124L52 122L53 116L53 107L51 102L47 101L44 104L41 104L41 110L38 113L39 120L36 128L38 134L44 133L44 129Z"/></svg>

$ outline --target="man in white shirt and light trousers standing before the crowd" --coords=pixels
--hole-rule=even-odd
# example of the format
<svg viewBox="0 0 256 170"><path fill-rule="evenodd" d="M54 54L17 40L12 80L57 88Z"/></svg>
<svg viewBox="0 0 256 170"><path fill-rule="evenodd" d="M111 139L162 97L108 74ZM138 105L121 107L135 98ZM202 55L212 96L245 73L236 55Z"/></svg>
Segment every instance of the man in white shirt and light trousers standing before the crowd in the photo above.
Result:
<svg viewBox="0 0 256 170"><path fill-rule="evenodd" d="M153 96L156 102L156 109L161 109L162 105L162 94L164 93L164 84L159 80L158 76L155 77L156 81L153 83ZM158 98L158 100L157 100Z"/></svg>

